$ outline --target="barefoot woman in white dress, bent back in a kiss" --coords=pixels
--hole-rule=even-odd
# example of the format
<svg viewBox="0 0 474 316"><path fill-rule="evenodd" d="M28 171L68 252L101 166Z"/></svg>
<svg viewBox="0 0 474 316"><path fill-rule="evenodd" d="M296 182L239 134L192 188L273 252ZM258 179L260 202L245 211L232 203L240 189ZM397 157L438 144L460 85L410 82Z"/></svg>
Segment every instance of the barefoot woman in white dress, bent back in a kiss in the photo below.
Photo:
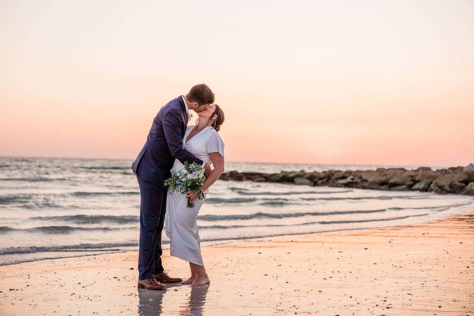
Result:
<svg viewBox="0 0 474 316"><path fill-rule="evenodd" d="M197 195L192 192L185 195L168 190L164 219L165 233L171 240L171 255L188 261L191 269L191 276L181 284L192 286L210 283L202 262L196 218L209 187L224 172L224 143L217 133L224 122L224 112L217 104L210 104L206 110L198 112L197 115L199 116L197 124L186 129L184 148L197 158L212 164L214 168L200 188L204 199L197 199ZM210 118L215 118L215 121L207 126ZM181 168L183 164L176 159L173 169ZM192 208L187 207L188 197L194 201Z"/></svg>

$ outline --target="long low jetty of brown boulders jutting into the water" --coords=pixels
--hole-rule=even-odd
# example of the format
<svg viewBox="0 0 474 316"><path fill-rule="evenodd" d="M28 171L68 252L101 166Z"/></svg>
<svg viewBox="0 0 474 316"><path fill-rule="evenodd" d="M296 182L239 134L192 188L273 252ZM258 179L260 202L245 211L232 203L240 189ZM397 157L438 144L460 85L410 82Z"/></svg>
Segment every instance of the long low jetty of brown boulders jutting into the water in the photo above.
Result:
<svg viewBox="0 0 474 316"><path fill-rule="evenodd" d="M373 190L423 191L439 194L474 196L474 164L433 170L420 167L378 168L377 170L322 172L281 171L280 173L237 172L223 173L221 180L277 182L310 186L346 187Z"/></svg>

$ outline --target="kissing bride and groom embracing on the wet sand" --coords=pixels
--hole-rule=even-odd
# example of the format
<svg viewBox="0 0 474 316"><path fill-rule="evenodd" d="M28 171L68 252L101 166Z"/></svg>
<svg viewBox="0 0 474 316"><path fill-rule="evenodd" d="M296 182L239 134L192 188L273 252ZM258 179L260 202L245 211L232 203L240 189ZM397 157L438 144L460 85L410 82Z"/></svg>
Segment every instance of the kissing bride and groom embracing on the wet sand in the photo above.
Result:
<svg viewBox="0 0 474 316"><path fill-rule="evenodd" d="M187 126L189 111L197 113L196 125ZM206 84L197 84L186 95L164 105L153 119L147 141L132 163L140 187L140 240L138 287L161 290L162 283L209 284L202 261L197 214L209 187L224 172L224 142L218 131L224 112L214 104L214 93ZM206 170L200 190L204 199L193 192L169 192L164 180L170 169L181 169L185 162L197 162ZM190 198L194 207L187 207ZM161 232L165 226L172 256L189 262L191 276L168 276L161 262Z"/></svg>

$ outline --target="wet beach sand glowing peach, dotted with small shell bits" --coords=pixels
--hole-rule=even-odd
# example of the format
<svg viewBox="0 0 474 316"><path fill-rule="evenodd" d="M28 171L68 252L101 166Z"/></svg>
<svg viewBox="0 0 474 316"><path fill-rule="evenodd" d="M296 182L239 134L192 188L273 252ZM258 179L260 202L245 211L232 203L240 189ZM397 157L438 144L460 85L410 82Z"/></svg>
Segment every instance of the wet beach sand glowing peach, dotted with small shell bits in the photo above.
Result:
<svg viewBox="0 0 474 316"><path fill-rule="evenodd" d="M210 286L164 291L136 288L136 251L2 266L0 315L474 315L474 209L202 254ZM169 250L163 261L171 276L188 276Z"/></svg>

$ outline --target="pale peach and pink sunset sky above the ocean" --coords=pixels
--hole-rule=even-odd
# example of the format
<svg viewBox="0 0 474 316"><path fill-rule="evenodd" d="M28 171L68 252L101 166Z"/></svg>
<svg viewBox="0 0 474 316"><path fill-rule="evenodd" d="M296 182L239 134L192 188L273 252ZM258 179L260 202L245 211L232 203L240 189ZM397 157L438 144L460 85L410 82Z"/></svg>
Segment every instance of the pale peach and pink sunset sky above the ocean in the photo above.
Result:
<svg viewBox="0 0 474 316"><path fill-rule="evenodd" d="M0 0L0 45L0 156L133 160L206 83L226 161L474 162L473 0Z"/></svg>

